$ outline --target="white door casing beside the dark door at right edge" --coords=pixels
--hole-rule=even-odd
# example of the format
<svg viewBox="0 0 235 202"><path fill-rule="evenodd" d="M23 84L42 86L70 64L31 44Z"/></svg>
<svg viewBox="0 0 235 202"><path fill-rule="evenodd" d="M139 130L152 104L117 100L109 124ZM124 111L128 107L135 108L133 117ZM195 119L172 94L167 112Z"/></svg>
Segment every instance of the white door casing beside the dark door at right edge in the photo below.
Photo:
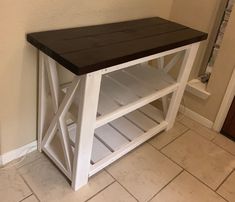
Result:
<svg viewBox="0 0 235 202"><path fill-rule="evenodd" d="M222 104L220 105L219 112L216 116L213 125L213 129L217 132L220 132L220 130L223 127L224 121L226 119L230 106L233 102L234 95L235 95L235 69L233 70L231 79L229 81L227 90L224 95L224 99L222 101Z"/></svg>

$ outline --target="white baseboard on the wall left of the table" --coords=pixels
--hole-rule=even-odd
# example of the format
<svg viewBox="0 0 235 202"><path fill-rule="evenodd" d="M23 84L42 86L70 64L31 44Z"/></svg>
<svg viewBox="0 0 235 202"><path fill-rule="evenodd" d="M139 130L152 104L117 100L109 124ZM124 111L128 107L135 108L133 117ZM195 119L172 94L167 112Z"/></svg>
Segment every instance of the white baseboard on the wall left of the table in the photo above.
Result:
<svg viewBox="0 0 235 202"><path fill-rule="evenodd" d="M12 150L5 154L0 155L0 166L24 156L27 153L33 152L37 149L37 141L24 145L18 149Z"/></svg>

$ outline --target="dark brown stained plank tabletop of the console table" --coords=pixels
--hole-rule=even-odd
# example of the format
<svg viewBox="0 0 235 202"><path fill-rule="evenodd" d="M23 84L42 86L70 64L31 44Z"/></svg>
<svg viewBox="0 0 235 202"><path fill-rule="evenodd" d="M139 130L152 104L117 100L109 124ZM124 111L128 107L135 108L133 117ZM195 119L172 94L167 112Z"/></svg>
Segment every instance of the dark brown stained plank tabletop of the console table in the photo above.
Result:
<svg viewBox="0 0 235 202"><path fill-rule="evenodd" d="M159 17L27 34L76 75L205 40L207 34Z"/></svg>

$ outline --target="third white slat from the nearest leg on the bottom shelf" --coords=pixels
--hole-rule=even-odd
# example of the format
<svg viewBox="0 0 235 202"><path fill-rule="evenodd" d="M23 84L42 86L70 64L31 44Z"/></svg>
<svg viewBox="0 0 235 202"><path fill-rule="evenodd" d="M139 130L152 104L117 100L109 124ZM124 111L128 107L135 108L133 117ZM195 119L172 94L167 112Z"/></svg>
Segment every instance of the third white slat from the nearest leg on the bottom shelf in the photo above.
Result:
<svg viewBox="0 0 235 202"><path fill-rule="evenodd" d="M125 117L121 117L110 122L110 125L112 125L129 140L134 140L136 137L144 133L144 131L139 129Z"/></svg>

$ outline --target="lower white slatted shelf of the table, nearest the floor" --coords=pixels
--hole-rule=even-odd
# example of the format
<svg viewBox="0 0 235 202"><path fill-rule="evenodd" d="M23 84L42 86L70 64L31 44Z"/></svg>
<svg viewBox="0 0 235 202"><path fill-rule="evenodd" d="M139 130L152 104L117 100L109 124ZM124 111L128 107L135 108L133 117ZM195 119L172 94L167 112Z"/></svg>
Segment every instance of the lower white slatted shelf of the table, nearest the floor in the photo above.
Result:
<svg viewBox="0 0 235 202"><path fill-rule="evenodd" d="M144 136L149 130L160 126L163 121L162 112L146 105L123 117L120 117L95 130L91 164L96 164L109 155L121 151L137 138ZM76 125L69 127L71 144L74 146Z"/></svg>

